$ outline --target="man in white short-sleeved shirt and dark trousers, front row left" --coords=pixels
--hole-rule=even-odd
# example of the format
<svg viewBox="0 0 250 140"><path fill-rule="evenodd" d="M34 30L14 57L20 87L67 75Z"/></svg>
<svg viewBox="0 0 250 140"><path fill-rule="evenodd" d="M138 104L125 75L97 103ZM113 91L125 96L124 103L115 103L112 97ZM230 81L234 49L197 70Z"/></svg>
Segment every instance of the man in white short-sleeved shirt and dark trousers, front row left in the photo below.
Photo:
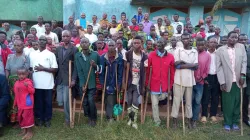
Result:
<svg viewBox="0 0 250 140"><path fill-rule="evenodd" d="M30 67L33 70L35 87L35 118L36 125L50 127L52 118L52 92L57 62L54 53L46 49L47 39L39 38L39 50L30 54Z"/></svg>

